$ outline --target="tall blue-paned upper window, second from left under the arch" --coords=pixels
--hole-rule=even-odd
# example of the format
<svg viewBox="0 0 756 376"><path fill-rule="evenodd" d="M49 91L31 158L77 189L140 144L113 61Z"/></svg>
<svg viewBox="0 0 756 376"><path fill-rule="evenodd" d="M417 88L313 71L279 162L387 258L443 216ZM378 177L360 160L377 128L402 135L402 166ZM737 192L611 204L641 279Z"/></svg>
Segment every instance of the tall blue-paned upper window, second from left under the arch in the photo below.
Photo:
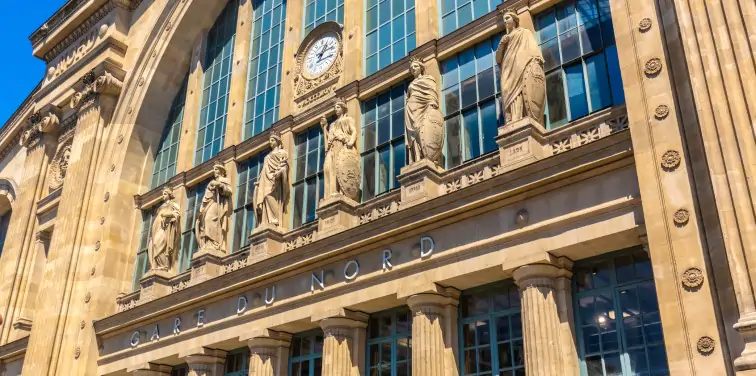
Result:
<svg viewBox="0 0 756 376"><path fill-rule="evenodd" d="M195 165L209 160L223 149L238 11L238 2L229 1L207 34Z"/></svg>

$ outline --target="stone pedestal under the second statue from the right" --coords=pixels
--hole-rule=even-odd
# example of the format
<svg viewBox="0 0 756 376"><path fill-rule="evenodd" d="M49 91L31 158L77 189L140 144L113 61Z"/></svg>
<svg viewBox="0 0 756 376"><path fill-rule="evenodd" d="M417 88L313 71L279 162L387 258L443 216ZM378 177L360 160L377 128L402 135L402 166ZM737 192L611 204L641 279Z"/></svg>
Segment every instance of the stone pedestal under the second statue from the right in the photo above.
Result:
<svg viewBox="0 0 756 376"><path fill-rule="evenodd" d="M427 159L402 167L399 184L402 186L402 206L413 206L438 197L444 169Z"/></svg>

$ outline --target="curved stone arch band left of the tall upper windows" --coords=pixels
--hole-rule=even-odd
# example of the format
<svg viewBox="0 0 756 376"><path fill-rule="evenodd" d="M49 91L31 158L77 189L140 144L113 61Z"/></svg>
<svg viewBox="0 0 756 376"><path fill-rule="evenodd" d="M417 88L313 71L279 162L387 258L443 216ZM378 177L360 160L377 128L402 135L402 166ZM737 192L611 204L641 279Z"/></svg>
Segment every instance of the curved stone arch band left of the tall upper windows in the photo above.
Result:
<svg viewBox="0 0 756 376"><path fill-rule="evenodd" d="M241 0L240 6L246 1L249 0ZM122 292L131 288L141 226L134 196L149 187L163 126L187 70L202 69L189 66L192 51L227 4L228 0L168 1L124 81L98 168L97 189L93 191L94 205L100 208L91 211L107 219L103 223L102 246L110 251L104 256L108 259L104 261L106 268L110 269L102 272L122 282L118 288ZM188 90L201 88L190 81ZM187 102L186 111L195 110ZM193 141L193 134L182 131L182 143ZM104 195L109 197L107 202L102 199Z"/></svg>

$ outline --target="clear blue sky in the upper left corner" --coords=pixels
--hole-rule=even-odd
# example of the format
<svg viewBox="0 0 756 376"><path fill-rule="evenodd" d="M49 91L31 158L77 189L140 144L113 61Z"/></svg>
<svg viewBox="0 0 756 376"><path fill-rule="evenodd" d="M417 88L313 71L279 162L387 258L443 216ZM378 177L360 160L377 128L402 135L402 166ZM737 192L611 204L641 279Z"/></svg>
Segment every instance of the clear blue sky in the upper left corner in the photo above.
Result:
<svg viewBox="0 0 756 376"><path fill-rule="evenodd" d="M3 90L0 90L0 126L42 79L45 62L32 56L29 35L42 26L66 0L3 1L0 40Z"/></svg>

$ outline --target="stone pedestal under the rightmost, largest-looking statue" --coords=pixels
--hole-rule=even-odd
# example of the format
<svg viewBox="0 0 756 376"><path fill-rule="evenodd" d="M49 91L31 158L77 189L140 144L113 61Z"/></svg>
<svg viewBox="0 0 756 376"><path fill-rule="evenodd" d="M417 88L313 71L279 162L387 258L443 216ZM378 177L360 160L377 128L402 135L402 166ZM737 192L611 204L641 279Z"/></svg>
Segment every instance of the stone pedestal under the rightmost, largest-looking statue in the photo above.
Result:
<svg viewBox="0 0 756 376"><path fill-rule="evenodd" d="M499 128L501 172L511 171L546 157L546 130L532 118L526 117Z"/></svg>

